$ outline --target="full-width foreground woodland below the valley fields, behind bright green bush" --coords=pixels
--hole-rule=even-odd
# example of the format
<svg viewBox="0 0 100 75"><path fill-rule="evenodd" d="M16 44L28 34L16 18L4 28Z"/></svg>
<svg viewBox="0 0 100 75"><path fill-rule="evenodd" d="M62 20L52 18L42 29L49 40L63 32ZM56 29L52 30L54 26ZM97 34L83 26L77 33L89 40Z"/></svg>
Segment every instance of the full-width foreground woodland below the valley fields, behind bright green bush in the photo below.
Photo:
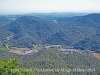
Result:
<svg viewBox="0 0 100 75"><path fill-rule="evenodd" d="M19 67L30 69L36 75L99 75L100 74L100 60L88 55L87 53L62 53L56 48L43 49L38 53L30 55L16 55L6 51L0 51L0 59L9 60L11 58L19 59ZM8 61L6 61L8 62ZM14 64L14 63L13 63ZM18 68L18 67L17 67ZM45 69L40 70L40 69ZM46 69L49 69L49 71ZM51 71L51 70L53 71ZM57 70L57 69L60 69ZM62 71L66 69L71 71ZM85 71L74 71L75 69L85 69ZM89 71L90 69L90 71ZM19 75L19 74L18 74ZM25 74L24 74L25 75ZM27 75L27 74L26 74ZM33 74L32 74L33 75Z"/></svg>

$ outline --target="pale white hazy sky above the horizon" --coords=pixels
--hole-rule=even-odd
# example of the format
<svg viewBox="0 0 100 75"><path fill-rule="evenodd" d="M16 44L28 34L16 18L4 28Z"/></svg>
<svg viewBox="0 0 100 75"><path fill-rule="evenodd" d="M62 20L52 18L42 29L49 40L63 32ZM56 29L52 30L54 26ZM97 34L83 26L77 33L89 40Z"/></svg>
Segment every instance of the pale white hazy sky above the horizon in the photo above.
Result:
<svg viewBox="0 0 100 75"><path fill-rule="evenodd" d="M0 13L100 12L100 0L0 0Z"/></svg>

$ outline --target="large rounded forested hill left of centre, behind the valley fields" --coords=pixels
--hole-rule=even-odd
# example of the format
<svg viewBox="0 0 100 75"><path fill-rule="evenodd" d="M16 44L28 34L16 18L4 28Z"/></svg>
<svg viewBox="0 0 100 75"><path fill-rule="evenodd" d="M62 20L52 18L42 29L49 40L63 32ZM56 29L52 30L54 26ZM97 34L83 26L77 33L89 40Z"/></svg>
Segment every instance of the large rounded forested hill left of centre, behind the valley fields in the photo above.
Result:
<svg viewBox="0 0 100 75"><path fill-rule="evenodd" d="M12 32L13 45L32 47L33 44L45 43L45 39L59 31L52 21L33 16L24 16L3 27Z"/></svg>

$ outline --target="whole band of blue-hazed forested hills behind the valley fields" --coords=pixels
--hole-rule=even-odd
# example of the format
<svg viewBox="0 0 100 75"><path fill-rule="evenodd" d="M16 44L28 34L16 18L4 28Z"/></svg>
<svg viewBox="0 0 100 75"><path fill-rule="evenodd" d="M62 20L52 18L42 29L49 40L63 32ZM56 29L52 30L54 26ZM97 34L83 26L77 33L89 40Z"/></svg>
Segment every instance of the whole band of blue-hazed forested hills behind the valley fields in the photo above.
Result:
<svg viewBox="0 0 100 75"><path fill-rule="evenodd" d="M8 41L13 46L33 47L33 44L62 44L78 49L99 51L99 27L100 14L52 19L27 15L2 26L1 30L8 31L9 36L13 36ZM4 33L0 37L2 36L6 38L8 35ZM86 41L86 38L89 40ZM83 40L86 42L83 43Z"/></svg>

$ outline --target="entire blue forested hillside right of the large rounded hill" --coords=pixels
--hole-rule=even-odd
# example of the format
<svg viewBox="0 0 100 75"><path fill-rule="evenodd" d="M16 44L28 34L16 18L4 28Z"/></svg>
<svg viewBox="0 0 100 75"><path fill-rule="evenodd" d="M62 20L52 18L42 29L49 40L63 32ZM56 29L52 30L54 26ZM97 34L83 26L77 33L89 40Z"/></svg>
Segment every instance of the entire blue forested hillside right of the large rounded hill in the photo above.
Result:
<svg viewBox="0 0 100 75"><path fill-rule="evenodd" d="M61 27L61 32L46 39L47 43L100 51L100 14L58 18L56 21Z"/></svg>

